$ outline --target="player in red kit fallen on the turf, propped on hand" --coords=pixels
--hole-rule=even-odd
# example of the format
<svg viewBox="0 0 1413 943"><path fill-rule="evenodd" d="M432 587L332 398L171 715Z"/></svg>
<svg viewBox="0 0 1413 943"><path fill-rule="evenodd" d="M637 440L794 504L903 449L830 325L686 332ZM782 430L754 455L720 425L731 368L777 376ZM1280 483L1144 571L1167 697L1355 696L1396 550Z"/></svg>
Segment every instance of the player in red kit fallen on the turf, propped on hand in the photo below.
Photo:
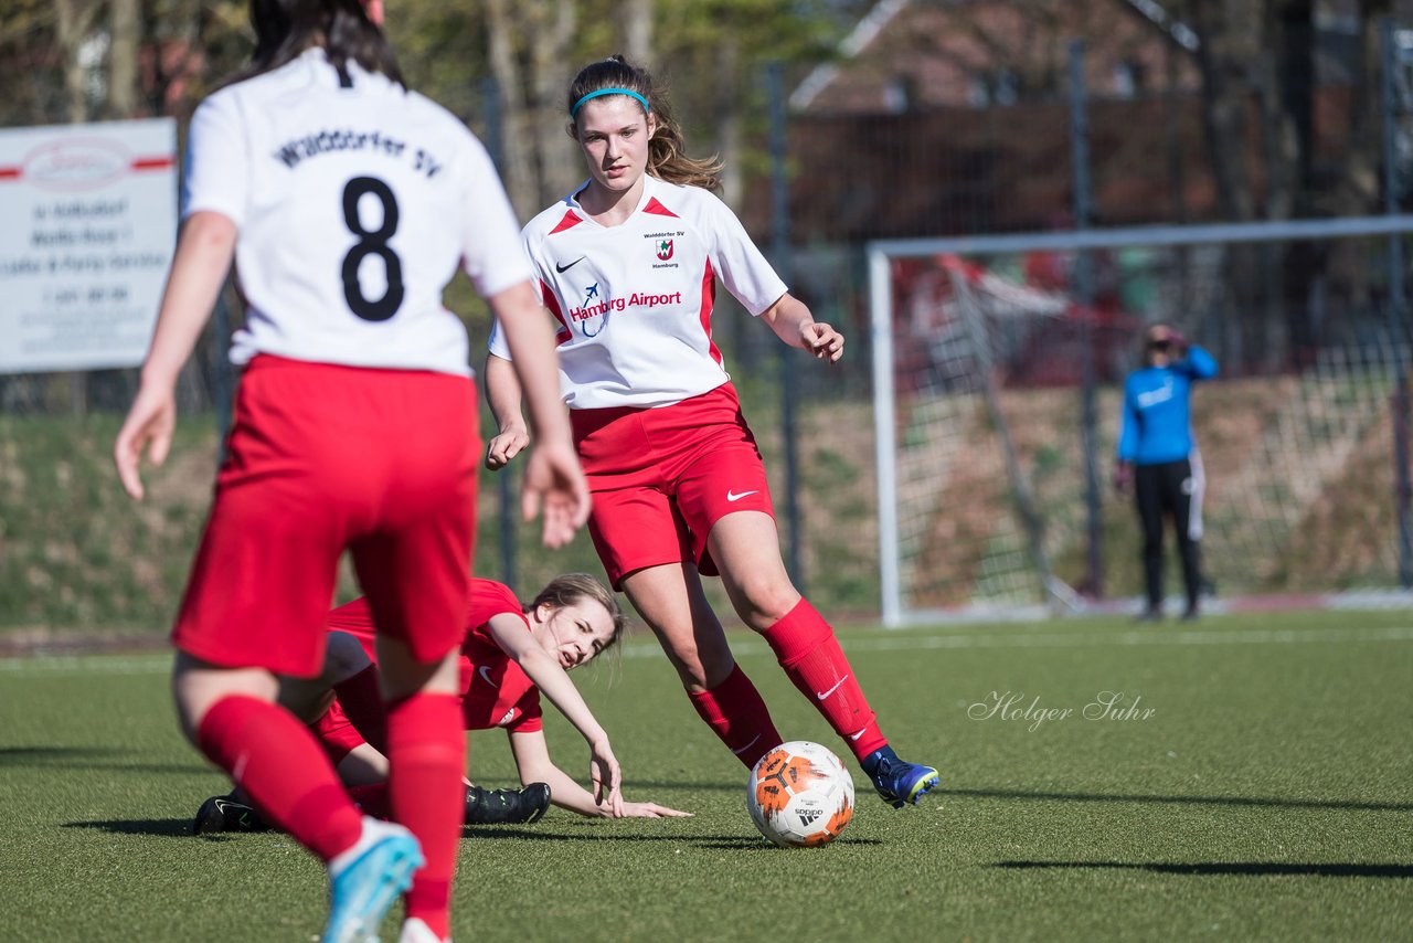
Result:
<svg viewBox="0 0 1413 943"><path fill-rule="evenodd" d="M373 662L373 619L355 599L328 618L324 673L287 681L281 703L304 718L339 779L363 812L386 816L387 759L382 752L383 707ZM613 646L623 614L613 595L591 575L557 577L523 605L499 582L473 580L466 638L461 646L462 721L466 730L503 727L510 738L523 789L486 790L468 783L466 824L530 823L552 802L581 816L666 817L690 813L650 802L596 800L550 759L540 713L544 691L589 742L596 789L619 782L608 734L593 720L567 672ZM239 793L212 796L196 813L195 831L260 831L261 816Z"/></svg>

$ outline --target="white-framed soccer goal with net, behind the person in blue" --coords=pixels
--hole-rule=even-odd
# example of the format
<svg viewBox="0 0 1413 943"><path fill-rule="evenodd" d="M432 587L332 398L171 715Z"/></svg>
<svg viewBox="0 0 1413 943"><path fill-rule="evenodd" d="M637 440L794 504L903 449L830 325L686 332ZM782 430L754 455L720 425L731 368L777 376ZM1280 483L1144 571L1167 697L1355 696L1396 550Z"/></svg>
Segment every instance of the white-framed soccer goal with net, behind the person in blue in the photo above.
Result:
<svg viewBox="0 0 1413 943"><path fill-rule="evenodd" d="M1402 223L1369 226L1407 228L1392 219ZM1321 252L1338 242L1335 254L1376 269L1388 239L1284 228L1000 236L992 252L978 249L986 239L873 246L885 622L1033 618L1137 595L1137 525L1109 478L1122 379L1157 321L1222 366L1193 407L1210 481L1207 575L1231 594L1392 587L1393 394L1409 356L1399 321L1383 300L1277 298L1251 311L1238 284L1270 283L1269 270L1248 270L1272 259L1279 269L1301 240ZM1094 250L1085 238L1109 242ZM1284 242L1270 249L1272 238ZM1088 303L1075 283L1081 247L1092 252ZM1291 304L1316 312L1318 342L1297 344ZM1181 585L1176 556L1170 544L1170 591Z"/></svg>

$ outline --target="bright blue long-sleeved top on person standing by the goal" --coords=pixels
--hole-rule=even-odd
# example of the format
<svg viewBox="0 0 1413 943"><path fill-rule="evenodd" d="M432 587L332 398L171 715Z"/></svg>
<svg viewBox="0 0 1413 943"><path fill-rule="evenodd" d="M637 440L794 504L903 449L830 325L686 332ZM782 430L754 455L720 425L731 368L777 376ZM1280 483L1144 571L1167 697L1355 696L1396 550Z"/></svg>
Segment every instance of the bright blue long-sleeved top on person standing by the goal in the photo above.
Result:
<svg viewBox="0 0 1413 943"><path fill-rule="evenodd" d="M1187 458L1193 451L1193 383L1214 376L1217 361L1195 344L1181 361L1129 373L1123 380L1119 461L1157 465Z"/></svg>

